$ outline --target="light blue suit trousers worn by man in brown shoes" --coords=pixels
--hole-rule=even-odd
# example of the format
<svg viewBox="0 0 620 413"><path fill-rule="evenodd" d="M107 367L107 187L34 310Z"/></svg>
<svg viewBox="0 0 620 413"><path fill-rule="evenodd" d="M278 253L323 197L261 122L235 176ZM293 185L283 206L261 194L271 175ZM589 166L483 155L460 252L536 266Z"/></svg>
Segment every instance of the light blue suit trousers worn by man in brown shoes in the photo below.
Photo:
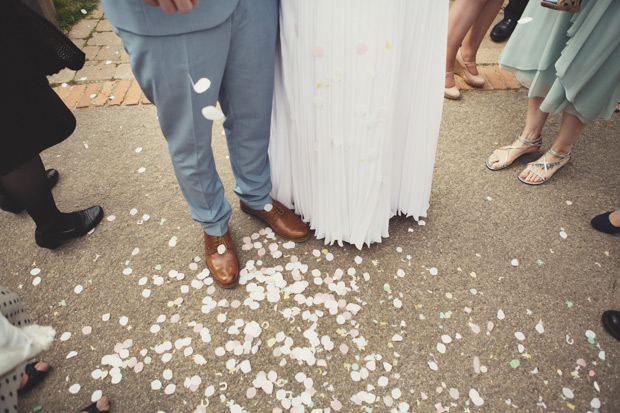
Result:
<svg viewBox="0 0 620 413"><path fill-rule="evenodd" d="M219 100L234 191L247 205L271 203L269 130L277 0L241 0L221 25L173 36L140 36L117 28L131 68L146 97L157 106L162 132L192 218L209 235L228 231L232 214L211 149L212 121L202 115ZM211 87L196 93L192 81Z"/></svg>

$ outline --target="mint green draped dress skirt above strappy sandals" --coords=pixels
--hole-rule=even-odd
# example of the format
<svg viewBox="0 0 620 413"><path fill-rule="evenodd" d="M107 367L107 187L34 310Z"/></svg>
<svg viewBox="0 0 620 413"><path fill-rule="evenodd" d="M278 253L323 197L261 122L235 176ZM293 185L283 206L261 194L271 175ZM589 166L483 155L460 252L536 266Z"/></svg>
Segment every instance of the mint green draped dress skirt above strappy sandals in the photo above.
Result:
<svg viewBox="0 0 620 413"><path fill-rule="evenodd" d="M530 1L499 57L543 112L609 120L620 101L620 0L583 0L578 13Z"/></svg>

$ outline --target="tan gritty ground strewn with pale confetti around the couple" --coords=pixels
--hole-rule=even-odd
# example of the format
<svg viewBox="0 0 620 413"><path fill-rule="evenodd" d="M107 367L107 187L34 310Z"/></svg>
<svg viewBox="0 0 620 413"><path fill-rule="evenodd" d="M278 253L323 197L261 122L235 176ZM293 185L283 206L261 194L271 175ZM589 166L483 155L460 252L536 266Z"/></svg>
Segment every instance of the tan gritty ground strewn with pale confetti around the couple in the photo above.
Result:
<svg viewBox="0 0 620 413"><path fill-rule="evenodd" d="M84 39L103 44L89 53L107 59L116 40L95 36L109 30L92 18ZM485 41L479 62L500 50ZM91 66L125 70L116 51ZM113 76L100 80L123 79ZM114 412L620 411L620 343L600 322L620 309L620 243L589 223L620 206L620 159L608 149L618 114L586 129L574 159L532 187L516 176L535 155L500 172L484 165L521 131L526 91L464 91L445 102L425 225L396 217L389 238L361 251L291 245L243 214L216 124L246 268L225 291L203 271L201 228L155 108L97 107L91 93L76 92L76 132L42 157L60 171L60 209L100 204L104 221L49 251L25 213L0 213L0 282L58 332L41 356L53 370L20 412L78 411L100 394ZM547 122L545 149L559 122Z"/></svg>

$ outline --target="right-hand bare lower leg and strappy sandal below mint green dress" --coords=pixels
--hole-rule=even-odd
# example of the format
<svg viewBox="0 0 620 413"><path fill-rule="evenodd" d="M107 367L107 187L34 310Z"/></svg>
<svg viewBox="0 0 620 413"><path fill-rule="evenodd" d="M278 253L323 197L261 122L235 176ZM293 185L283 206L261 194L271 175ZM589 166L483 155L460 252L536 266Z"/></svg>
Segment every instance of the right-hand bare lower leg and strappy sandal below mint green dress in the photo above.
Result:
<svg viewBox="0 0 620 413"><path fill-rule="evenodd" d="M551 149L559 155L565 155L569 153L573 145L575 144L575 141L577 140L577 138L579 138L579 135L581 135L581 132L583 132L586 126L587 125L585 123L582 123L579 118L565 112L562 116L562 125L560 126L560 132L558 133L557 138L555 138ZM538 160L538 162L543 162L545 161L545 159L547 162L556 162L559 161L561 158L553 156L550 153L546 153ZM562 163L557 165L552 170L548 171L548 176L551 177L558 169L566 165L569 159L570 158L565 158ZM543 168L534 165L530 166L530 168L538 172L540 175L545 176L545 171ZM519 176L526 182L541 182L543 180L534 172L527 170L527 168L524 169L519 174Z"/></svg>

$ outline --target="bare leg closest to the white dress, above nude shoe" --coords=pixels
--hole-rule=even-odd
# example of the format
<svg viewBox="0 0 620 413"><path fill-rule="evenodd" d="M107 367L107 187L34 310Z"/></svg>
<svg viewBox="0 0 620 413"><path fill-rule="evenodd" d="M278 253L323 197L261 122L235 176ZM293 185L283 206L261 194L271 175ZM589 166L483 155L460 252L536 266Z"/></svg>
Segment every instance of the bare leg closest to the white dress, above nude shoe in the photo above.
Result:
<svg viewBox="0 0 620 413"><path fill-rule="evenodd" d="M489 0L455 0L448 16L446 72L454 71L454 60L465 35ZM496 1L496 0L493 0ZM446 77L446 87L454 86L454 76Z"/></svg>

